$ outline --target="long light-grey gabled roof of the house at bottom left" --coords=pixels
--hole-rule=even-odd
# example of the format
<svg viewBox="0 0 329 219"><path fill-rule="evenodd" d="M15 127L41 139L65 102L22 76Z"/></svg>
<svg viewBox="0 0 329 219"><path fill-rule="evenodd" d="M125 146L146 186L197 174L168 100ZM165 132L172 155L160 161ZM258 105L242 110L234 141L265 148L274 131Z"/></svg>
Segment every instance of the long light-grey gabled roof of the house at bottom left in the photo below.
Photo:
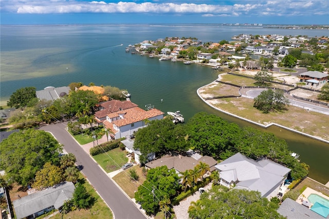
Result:
<svg viewBox="0 0 329 219"><path fill-rule="evenodd" d="M13 206L16 217L24 218L51 206L58 209L64 204L65 200L72 197L74 190L74 184L66 182L56 188L51 187L14 200Z"/></svg>

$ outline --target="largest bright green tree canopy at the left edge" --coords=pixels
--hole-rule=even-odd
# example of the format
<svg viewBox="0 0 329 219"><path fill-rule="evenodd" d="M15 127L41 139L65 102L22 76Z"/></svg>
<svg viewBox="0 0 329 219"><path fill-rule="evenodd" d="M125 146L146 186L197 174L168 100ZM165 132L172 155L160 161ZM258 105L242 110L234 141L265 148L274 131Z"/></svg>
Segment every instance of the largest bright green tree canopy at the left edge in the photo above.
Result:
<svg viewBox="0 0 329 219"><path fill-rule="evenodd" d="M29 129L12 133L1 142L1 169L8 178L27 186L46 162L59 163L61 145L51 134Z"/></svg>

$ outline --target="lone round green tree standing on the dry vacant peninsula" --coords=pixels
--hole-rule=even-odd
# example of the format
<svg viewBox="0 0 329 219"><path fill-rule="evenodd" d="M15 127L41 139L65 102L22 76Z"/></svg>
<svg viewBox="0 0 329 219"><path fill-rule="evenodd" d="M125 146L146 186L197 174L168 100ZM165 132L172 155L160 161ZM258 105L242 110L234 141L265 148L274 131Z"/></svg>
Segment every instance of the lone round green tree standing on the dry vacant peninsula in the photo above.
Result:
<svg viewBox="0 0 329 219"><path fill-rule="evenodd" d="M264 90L260 95L254 99L253 106L263 113L269 113L271 111L285 111L289 101L283 95L282 90Z"/></svg>

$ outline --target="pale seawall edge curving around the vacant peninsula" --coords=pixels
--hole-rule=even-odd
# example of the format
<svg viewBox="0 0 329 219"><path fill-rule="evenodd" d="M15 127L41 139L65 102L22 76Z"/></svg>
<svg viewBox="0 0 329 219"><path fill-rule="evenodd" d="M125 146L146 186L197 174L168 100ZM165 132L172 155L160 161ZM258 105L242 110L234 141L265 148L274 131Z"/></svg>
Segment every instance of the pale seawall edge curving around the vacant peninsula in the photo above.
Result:
<svg viewBox="0 0 329 219"><path fill-rule="evenodd" d="M246 121L246 122L249 122L249 123L252 123L252 124L258 125L258 126L263 127L263 128L265 128L265 129L266 129L267 127L272 126L272 125L276 125L276 126L281 127L282 129L285 129L285 130L287 130L287 131L294 132L294 133L297 133L297 134L303 135L303 136L305 136L305 137L312 138L312 139L315 139L315 140L318 140L318 141L321 141L321 142L324 142L324 143L329 144L329 141L328 141L328 140L325 140L325 139L322 139L322 138L319 138L319 137L316 137L316 136L313 136L313 135L309 135L309 134L306 134L306 133L303 133L303 132L300 132L300 131L297 131L297 130L291 129L290 127L286 127L286 126L284 126L284 125L280 125L280 124L275 123L275 122L271 122L271 123L269 123L269 124L264 125L264 124L261 124L261 123L258 123L258 122L255 122L255 121L252 121L252 120L249 120L249 119L246 119L246 118L243 118L243 117L237 116L237 115L235 115L235 114L232 114L232 113L230 113L230 112L224 111L223 109L220 109L220 108L217 108L217 107L213 106L212 104L208 103L208 102L207 102L207 101L206 101L206 100L200 95L199 90L200 90L200 89L203 89L204 87L206 87L206 86L208 86L208 85L210 85L210 84L212 84L212 83L214 83L214 82L216 82L216 80L213 81L213 82L211 82L211 83L209 83L209 84L206 84L206 85L204 85L204 86L202 86L202 87L199 87L199 88L196 90L196 93L197 93L198 97L199 97L200 99L202 99L202 101L204 101L207 105L209 105L210 107L212 107L212 108L215 109L216 111L220 111L220 112L222 112L222 113L225 113L226 115L229 115L229 116L235 117L235 118L237 118L237 119L241 119L241 120L244 120L244 121Z"/></svg>

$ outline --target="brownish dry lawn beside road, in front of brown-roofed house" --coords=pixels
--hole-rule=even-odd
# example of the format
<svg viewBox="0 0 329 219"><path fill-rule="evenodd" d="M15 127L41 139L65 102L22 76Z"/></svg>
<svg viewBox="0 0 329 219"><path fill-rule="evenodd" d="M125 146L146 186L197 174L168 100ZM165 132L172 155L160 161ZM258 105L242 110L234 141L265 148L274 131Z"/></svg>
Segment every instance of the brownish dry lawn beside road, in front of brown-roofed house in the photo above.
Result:
<svg viewBox="0 0 329 219"><path fill-rule="evenodd" d="M135 169L139 179L138 181L132 180L132 178L129 176L129 170ZM126 169L125 171L122 171L121 173L117 174L113 177L113 180L116 181L116 183L119 185L119 187L130 197L135 197L135 191L137 191L137 188L143 184L146 177L142 173L141 167L134 166L132 168Z"/></svg>

